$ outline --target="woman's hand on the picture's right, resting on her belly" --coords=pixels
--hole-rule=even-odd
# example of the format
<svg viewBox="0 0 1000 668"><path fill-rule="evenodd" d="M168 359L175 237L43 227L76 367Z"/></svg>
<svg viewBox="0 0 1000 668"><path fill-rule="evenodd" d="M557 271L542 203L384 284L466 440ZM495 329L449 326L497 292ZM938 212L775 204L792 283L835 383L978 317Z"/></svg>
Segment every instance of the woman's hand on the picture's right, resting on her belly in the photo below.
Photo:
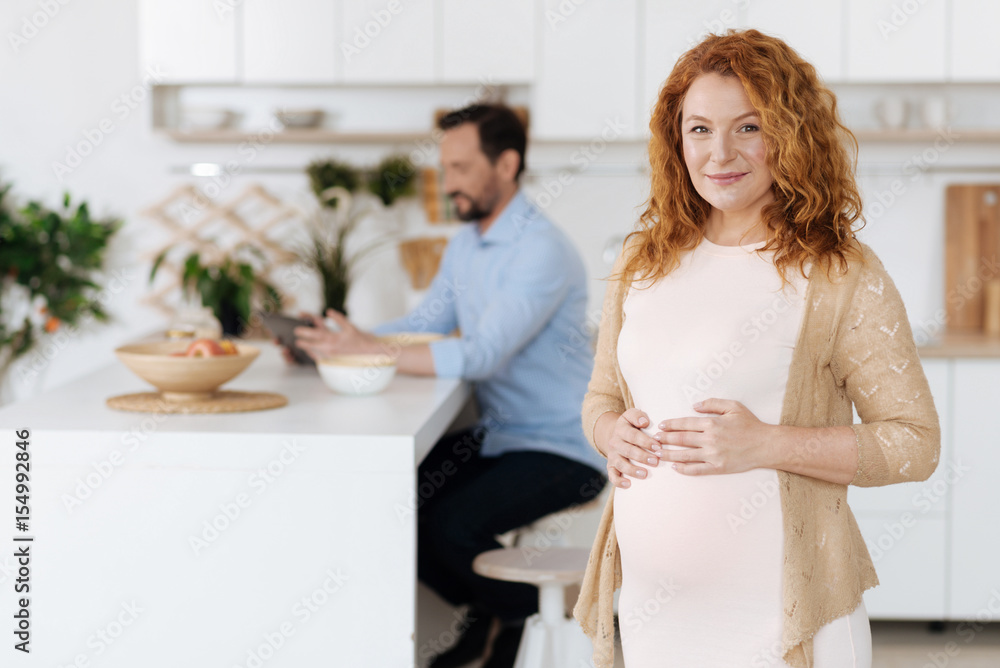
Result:
<svg viewBox="0 0 1000 668"><path fill-rule="evenodd" d="M673 462L685 475L741 473L767 467L768 448L775 425L757 419L746 406L731 399L706 399L694 405L699 413L713 417L683 417L664 420L653 438L664 445L660 459Z"/></svg>

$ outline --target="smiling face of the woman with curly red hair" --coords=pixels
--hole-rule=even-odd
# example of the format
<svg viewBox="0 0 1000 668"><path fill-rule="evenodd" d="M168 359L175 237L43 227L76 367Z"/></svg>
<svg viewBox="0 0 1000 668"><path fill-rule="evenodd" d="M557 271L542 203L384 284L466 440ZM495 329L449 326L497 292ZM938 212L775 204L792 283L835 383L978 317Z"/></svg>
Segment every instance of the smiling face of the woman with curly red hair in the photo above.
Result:
<svg viewBox="0 0 1000 668"><path fill-rule="evenodd" d="M681 106L684 162L713 213L757 220L774 201L760 118L736 77L703 74Z"/></svg>

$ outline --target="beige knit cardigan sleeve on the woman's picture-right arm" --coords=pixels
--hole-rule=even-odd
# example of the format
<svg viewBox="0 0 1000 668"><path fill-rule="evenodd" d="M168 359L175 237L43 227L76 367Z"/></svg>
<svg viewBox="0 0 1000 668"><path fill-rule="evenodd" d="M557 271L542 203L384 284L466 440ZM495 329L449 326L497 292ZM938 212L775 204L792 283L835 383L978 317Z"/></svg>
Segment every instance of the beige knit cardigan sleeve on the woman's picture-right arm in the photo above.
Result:
<svg viewBox="0 0 1000 668"><path fill-rule="evenodd" d="M834 344L831 369L857 409L852 485L926 480L937 468L941 428L902 297L865 247L857 287Z"/></svg>

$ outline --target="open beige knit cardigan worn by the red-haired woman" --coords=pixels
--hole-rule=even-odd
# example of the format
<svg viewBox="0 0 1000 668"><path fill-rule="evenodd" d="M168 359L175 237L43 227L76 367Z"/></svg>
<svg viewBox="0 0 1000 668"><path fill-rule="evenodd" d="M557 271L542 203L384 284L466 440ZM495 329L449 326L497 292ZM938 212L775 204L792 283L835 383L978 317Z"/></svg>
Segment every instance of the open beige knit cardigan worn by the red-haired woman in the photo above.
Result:
<svg viewBox="0 0 1000 668"><path fill-rule="evenodd" d="M926 480L937 468L941 431L906 309L872 249L853 243L858 244L863 262L852 259L843 271L835 262L832 279L822 270L809 272L781 424L852 426L859 459L852 485ZM613 275L621 273L634 246L621 254ZM624 281L613 281L604 300L594 371L583 402L583 429L591 445L598 417L633 407L616 352L627 292ZM852 402L861 424L852 424ZM822 443L802 447L822 447ZM798 668L811 668L813 635L853 611L878 578L847 506L847 485L786 471L778 471L778 482L785 555L783 658ZM612 599L622 576L613 504L614 490L573 610L594 643L596 668L614 664ZM670 648L663 649L669 655Z"/></svg>

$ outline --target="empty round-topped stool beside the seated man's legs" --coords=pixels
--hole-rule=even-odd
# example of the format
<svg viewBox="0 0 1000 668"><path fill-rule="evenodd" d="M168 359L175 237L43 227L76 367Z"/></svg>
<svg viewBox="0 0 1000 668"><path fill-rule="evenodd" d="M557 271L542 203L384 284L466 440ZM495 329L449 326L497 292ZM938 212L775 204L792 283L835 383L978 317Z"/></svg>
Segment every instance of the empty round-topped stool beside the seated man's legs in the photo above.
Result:
<svg viewBox="0 0 1000 668"><path fill-rule="evenodd" d="M524 623L514 668L576 668L589 665L593 647L575 619L566 618L566 587L583 581L590 550L518 547L483 552L472 570L483 577L538 587L538 614Z"/></svg>

